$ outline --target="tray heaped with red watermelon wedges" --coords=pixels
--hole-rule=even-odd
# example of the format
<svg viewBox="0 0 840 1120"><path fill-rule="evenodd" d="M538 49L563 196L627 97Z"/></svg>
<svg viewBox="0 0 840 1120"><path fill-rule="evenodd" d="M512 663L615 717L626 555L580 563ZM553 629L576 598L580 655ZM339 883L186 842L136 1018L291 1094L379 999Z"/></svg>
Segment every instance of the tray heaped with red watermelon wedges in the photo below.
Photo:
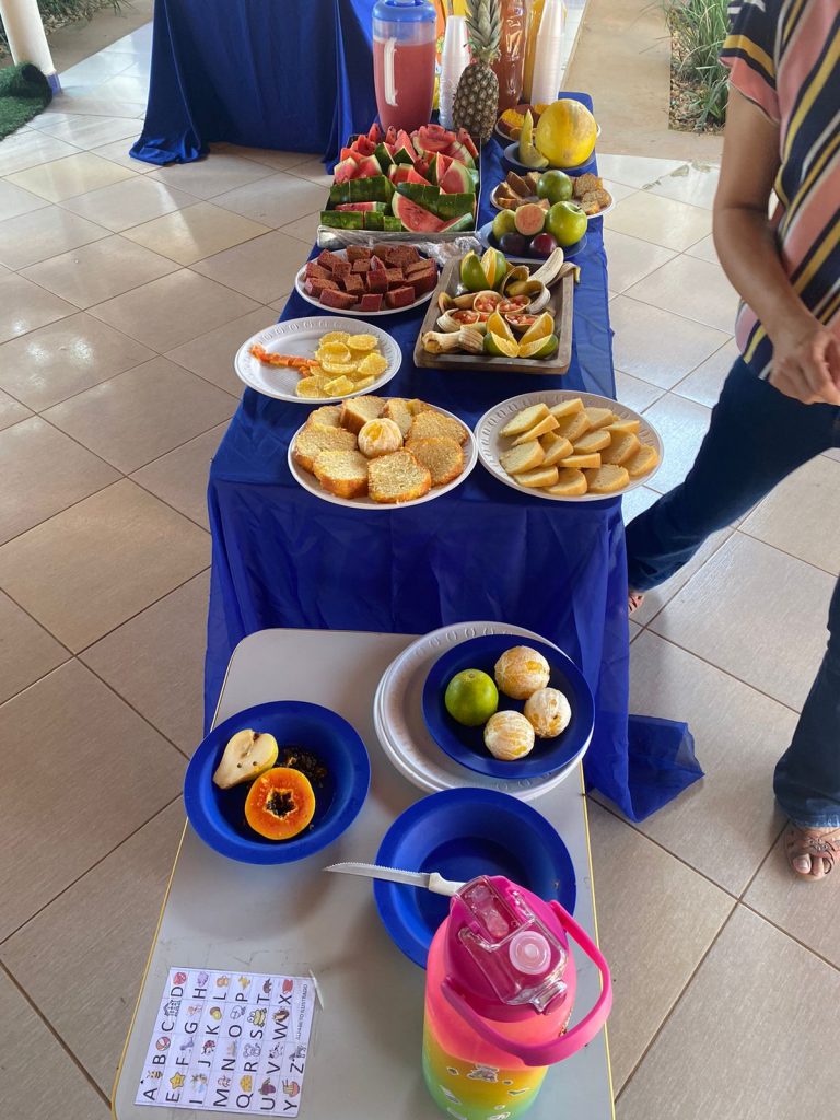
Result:
<svg viewBox="0 0 840 1120"><path fill-rule="evenodd" d="M478 151L469 133L379 124L342 149L320 224L334 230L457 234L475 230Z"/></svg>

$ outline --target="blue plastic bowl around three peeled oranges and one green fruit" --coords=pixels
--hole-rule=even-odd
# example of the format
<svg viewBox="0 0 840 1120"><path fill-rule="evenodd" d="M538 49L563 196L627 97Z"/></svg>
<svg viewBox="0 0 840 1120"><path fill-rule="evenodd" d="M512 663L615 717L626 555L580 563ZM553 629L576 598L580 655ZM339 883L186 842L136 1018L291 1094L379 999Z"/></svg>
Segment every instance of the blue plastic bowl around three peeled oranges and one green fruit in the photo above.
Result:
<svg viewBox="0 0 840 1120"><path fill-rule="evenodd" d="M452 719L446 710L444 696L449 681L464 669L480 669L493 676L498 659L514 645L526 645L545 657L551 669L549 687L564 693L571 708L571 720L556 739L538 738L530 755L506 763L494 758L485 747L483 727L464 727ZM422 703L426 726L440 749L461 766L489 777L541 777L562 769L588 745L595 727L592 693L571 657L543 642L511 634L469 638L438 657L426 678ZM522 711L524 707L524 700L512 700L498 693L500 711Z"/></svg>

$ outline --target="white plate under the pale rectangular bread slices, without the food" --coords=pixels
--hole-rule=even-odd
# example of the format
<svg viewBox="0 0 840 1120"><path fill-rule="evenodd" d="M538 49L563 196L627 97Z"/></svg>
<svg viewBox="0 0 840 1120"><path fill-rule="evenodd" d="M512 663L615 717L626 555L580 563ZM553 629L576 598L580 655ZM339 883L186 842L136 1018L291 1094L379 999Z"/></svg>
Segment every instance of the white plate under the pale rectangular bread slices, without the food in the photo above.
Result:
<svg viewBox="0 0 840 1120"><path fill-rule="evenodd" d="M622 491L616 491L615 494L580 494L578 497L559 497L553 494L547 494L545 491L539 489L531 486L520 486L520 484L507 474L502 464L498 461L498 457L503 451L506 451L511 446L507 438L501 437L498 433L514 414L521 409L525 409L529 404L539 404L541 401L551 408L552 404L559 404L560 401L568 401L573 396L579 396L584 402L585 408L600 408L600 409L612 409L617 417L622 420L638 420L641 428L638 429L638 438L643 444L653 444L659 452L660 461L650 470L646 475L642 475L641 478L631 478L629 484ZM660 466L662 466L662 459L664 457L664 451L662 447L662 440L656 429L651 424L645 417L640 416L638 412L634 412L633 409L628 409L626 404L622 404L619 401L614 401L609 396L599 396L597 393L577 393L572 389L554 389L545 390L544 392L536 393L522 393L520 396L511 396L506 401L502 401L501 404L494 405L488 412L485 412L478 423L475 426L475 437L478 444L478 458L482 464L494 475L501 483L505 486L510 486L512 489L519 491L521 494L531 494L534 497L545 498L547 502L605 502L607 498L620 497L623 494L627 494L629 491L635 489L637 486L646 485L651 478L656 474Z"/></svg>

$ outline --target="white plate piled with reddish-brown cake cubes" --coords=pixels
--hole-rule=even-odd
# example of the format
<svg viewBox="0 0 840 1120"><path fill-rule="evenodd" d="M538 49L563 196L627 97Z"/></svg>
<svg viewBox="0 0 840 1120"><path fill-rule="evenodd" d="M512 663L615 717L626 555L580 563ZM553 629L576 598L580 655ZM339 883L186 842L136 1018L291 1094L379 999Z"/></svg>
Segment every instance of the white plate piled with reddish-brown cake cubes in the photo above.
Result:
<svg viewBox="0 0 840 1120"><path fill-rule="evenodd" d="M295 279L308 304L365 318L419 307L437 283L435 261L404 243L325 249Z"/></svg>

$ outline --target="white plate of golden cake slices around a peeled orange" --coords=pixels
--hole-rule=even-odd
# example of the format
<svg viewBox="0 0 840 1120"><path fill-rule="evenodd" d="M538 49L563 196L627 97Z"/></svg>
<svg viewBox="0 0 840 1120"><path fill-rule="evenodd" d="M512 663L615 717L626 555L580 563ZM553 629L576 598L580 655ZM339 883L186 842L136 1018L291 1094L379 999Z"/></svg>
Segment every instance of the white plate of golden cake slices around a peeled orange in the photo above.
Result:
<svg viewBox="0 0 840 1120"><path fill-rule="evenodd" d="M289 446L289 469L337 505L393 510L458 486L477 460L451 412L401 396L356 396L310 412Z"/></svg>

